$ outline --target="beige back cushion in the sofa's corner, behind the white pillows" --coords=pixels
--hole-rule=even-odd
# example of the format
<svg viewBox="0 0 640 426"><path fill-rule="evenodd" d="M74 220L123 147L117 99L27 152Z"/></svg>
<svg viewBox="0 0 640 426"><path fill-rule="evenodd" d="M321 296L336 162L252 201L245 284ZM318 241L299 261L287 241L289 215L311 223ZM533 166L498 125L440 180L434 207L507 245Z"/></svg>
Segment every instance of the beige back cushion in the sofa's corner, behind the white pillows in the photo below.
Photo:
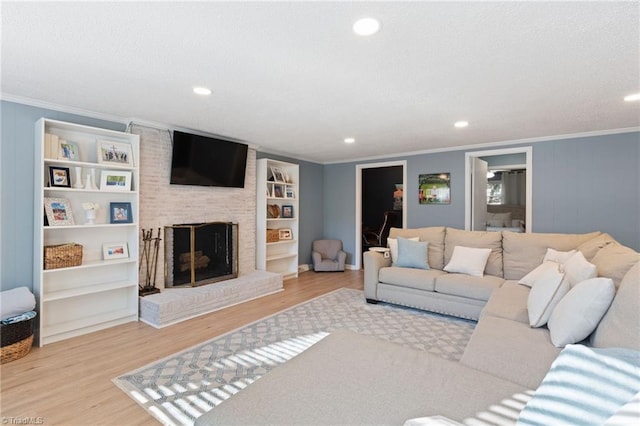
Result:
<svg viewBox="0 0 640 426"><path fill-rule="evenodd" d="M600 232L589 234L502 233L504 278L519 280L540 265L548 248L559 251L576 249Z"/></svg>

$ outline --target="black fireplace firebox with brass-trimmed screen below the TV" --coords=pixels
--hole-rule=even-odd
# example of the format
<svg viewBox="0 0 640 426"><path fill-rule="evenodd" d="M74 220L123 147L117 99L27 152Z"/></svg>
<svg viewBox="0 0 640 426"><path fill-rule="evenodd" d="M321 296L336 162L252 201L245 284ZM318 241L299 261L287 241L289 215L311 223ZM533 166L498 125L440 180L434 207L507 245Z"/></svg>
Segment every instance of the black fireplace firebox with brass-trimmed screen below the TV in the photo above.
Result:
<svg viewBox="0 0 640 426"><path fill-rule="evenodd" d="M238 277L238 224L164 227L165 287L196 287Z"/></svg>

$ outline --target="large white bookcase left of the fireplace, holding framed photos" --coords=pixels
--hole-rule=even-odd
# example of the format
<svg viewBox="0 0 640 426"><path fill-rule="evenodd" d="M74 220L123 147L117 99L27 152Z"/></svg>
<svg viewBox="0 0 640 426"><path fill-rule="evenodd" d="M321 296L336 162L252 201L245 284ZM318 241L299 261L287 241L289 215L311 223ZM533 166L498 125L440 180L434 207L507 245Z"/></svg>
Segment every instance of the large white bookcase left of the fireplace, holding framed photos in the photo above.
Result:
<svg viewBox="0 0 640 426"><path fill-rule="evenodd" d="M38 344L137 321L138 136L49 119L35 135ZM52 262L72 243L81 263Z"/></svg>

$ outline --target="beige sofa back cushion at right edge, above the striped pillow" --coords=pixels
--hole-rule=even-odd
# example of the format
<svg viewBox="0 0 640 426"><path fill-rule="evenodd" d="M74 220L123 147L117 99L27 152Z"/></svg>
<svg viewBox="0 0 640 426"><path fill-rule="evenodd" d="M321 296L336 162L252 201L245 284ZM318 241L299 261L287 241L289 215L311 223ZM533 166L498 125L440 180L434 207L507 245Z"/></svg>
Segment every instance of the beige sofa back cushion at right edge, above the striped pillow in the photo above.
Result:
<svg viewBox="0 0 640 426"><path fill-rule="evenodd" d="M621 347L640 351L638 295L640 295L640 262L629 269L622 279L609 310L591 335L593 346Z"/></svg>

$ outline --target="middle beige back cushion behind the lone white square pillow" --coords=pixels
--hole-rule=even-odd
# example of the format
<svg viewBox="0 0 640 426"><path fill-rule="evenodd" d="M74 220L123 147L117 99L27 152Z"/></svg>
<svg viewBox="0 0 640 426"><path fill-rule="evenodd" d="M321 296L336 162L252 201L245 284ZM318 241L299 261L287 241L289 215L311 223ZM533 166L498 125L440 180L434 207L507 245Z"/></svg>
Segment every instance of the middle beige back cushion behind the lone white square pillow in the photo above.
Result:
<svg viewBox="0 0 640 426"><path fill-rule="evenodd" d="M463 231L447 228L444 238L444 263L451 261L456 246L490 248L491 255L487 261L485 273L502 277L502 234L500 232ZM533 269L533 268L532 268Z"/></svg>

